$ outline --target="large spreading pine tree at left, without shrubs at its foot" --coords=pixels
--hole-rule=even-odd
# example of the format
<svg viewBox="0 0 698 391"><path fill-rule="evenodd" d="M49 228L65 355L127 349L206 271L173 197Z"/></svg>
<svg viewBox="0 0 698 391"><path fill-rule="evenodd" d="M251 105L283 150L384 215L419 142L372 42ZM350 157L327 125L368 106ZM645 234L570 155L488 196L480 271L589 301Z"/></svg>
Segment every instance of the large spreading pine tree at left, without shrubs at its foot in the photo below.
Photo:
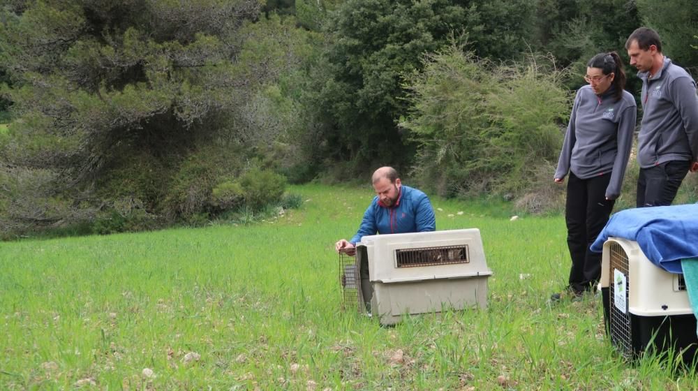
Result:
<svg viewBox="0 0 698 391"><path fill-rule="evenodd" d="M60 222L68 216L60 211L103 204L94 188L124 156L176 169L197 140L230 127L239 91L263 76L235 63L239 29L259 10L255 0L15 0L4 8L0 68L13 85L2 92L17 120L0 169L15 185L34 181L32 196L45 200L30 215L14 197L32 186L4 186L6 210L28 224Z"/></svg>

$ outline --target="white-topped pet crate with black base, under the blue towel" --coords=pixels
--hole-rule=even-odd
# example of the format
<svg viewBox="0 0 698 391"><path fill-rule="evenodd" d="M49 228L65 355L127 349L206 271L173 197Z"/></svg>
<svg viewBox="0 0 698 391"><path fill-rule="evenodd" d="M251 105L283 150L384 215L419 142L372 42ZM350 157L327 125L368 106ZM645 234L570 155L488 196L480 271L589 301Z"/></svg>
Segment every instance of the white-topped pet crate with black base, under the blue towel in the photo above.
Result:
<svg viewBox="0 0 698 391"><path fill-rule="evenodd" d="M625 357L652 346L674 348L690 364L696 354L696 318L682 274L654 265L629 239L610 237L602 255L600 286L611 342Z"/></svg>

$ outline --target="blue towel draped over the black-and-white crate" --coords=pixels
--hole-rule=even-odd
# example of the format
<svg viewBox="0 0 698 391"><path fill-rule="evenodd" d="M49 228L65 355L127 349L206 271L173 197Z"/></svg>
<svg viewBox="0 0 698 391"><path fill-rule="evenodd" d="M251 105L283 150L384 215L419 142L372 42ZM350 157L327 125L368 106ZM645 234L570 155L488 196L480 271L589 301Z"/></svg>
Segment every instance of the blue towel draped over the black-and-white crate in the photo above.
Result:
<svg viewBox="0 0 698 391"><path fill-rule="evenodd" d="M681 260L698 258L698 204L622 210L611 216L591 251L603 251L609 237L637 242L648 260L681 273Z"/></svg>

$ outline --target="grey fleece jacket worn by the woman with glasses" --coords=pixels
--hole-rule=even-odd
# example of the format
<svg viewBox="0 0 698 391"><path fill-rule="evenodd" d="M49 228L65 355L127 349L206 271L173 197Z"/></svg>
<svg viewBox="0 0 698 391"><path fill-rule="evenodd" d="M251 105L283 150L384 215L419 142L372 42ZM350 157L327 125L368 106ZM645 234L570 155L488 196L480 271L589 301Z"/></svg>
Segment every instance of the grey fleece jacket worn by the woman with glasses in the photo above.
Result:
<svg viewBox="0 0 698 391"><path fill-rule="evenodd" d="M628 91L616 101L615 88L596 95L591 86L577 90L567 125L556 178L572 171L580 179L611 172L606 197L621 195L621 184L628 166L637 105Z"/></svg>

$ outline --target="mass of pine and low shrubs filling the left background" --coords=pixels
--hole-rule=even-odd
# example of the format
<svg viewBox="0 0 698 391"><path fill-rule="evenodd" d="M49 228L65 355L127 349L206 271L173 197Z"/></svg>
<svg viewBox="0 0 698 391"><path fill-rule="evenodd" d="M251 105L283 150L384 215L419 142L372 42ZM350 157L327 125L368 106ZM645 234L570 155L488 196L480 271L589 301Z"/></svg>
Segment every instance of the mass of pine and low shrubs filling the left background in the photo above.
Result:
<svg viewBox="0 0 698 391"><path fill-rule="evenodd" d="M1 91L15 121L0 140L1 230L142 230L279 202L286 181L270 170L304 175L295 140L305 126L281 92L306 79L312 37L273 15L253 22L259 7L2 8L0 71L11 83ZM221 195L227 182L239 196Z"/></svg>

